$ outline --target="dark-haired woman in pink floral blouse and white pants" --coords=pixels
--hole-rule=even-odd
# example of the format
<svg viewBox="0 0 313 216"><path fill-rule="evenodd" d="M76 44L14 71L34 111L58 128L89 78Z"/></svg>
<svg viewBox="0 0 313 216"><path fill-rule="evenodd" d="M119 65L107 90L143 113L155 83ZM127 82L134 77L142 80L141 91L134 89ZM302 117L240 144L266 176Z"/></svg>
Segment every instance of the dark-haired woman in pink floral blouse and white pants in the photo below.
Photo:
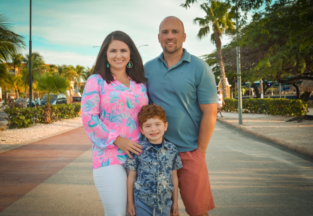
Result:
<svg viewBox="0 0 313 216"><path fill-rule="evenodd" d="M126 215L124 164L140 155L138 112L148 104L141 56L124 32L110 33L102 43L81 101L81 117L93 144L93 175L105 215Z"/></svg>

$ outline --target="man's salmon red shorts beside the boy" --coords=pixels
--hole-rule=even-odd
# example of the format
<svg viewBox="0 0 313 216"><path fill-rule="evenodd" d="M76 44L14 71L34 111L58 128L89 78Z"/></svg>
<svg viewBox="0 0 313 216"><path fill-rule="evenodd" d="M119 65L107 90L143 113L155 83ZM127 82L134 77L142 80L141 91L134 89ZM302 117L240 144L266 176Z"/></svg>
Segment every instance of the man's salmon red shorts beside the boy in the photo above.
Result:
<svg viewBox="0 0 313 216"><path fill-rule="evenodd" d="M201 150L180 152L182 168L177 169L179 190L186 212L200 215L215 208L205 155Z"/></svg>

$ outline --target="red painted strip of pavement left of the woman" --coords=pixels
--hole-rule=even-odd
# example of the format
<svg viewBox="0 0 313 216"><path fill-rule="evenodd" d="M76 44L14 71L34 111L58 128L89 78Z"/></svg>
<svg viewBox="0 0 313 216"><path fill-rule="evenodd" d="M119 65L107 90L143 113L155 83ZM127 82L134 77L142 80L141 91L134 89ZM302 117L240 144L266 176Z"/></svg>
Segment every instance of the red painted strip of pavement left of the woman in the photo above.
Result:
<svg viewBox="0 0 313 216"><path fill-rule="evenodd" d="M80 127L0 153L0 212L91 147Z"/></svg>

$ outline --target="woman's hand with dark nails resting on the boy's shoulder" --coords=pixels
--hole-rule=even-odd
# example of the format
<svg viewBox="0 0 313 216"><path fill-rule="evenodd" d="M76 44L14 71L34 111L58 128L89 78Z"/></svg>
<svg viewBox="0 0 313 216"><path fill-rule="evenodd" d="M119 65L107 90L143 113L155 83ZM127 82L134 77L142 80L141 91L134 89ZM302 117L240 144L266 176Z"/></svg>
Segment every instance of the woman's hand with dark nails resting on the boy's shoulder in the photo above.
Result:
<svg viewBox="0 0 313 216"><path fill-rule="evenodd" d="M129 139L118 136L114 144L121 150L123 150L129 158L132 159L131 152L136 155L141 155L143 153L143 147L136 142L133 142Z"/></svg>

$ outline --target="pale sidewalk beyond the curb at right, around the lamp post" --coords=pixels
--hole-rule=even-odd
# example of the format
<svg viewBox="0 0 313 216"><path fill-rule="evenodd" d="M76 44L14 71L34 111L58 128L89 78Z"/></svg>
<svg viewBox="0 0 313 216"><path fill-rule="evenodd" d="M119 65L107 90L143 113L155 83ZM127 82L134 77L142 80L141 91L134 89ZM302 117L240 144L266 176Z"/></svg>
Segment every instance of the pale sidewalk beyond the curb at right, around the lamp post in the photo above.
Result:
<svg viewBox="0 0 313 216"><path fill-rule="evenodd" d="M243 113L243 124L239 125L238 113L222 112L222 115L218 114L218 121L313 158L312 120L286 122L294 117ZM309 108L307 115L313 115L313 108Z"/></svg>

